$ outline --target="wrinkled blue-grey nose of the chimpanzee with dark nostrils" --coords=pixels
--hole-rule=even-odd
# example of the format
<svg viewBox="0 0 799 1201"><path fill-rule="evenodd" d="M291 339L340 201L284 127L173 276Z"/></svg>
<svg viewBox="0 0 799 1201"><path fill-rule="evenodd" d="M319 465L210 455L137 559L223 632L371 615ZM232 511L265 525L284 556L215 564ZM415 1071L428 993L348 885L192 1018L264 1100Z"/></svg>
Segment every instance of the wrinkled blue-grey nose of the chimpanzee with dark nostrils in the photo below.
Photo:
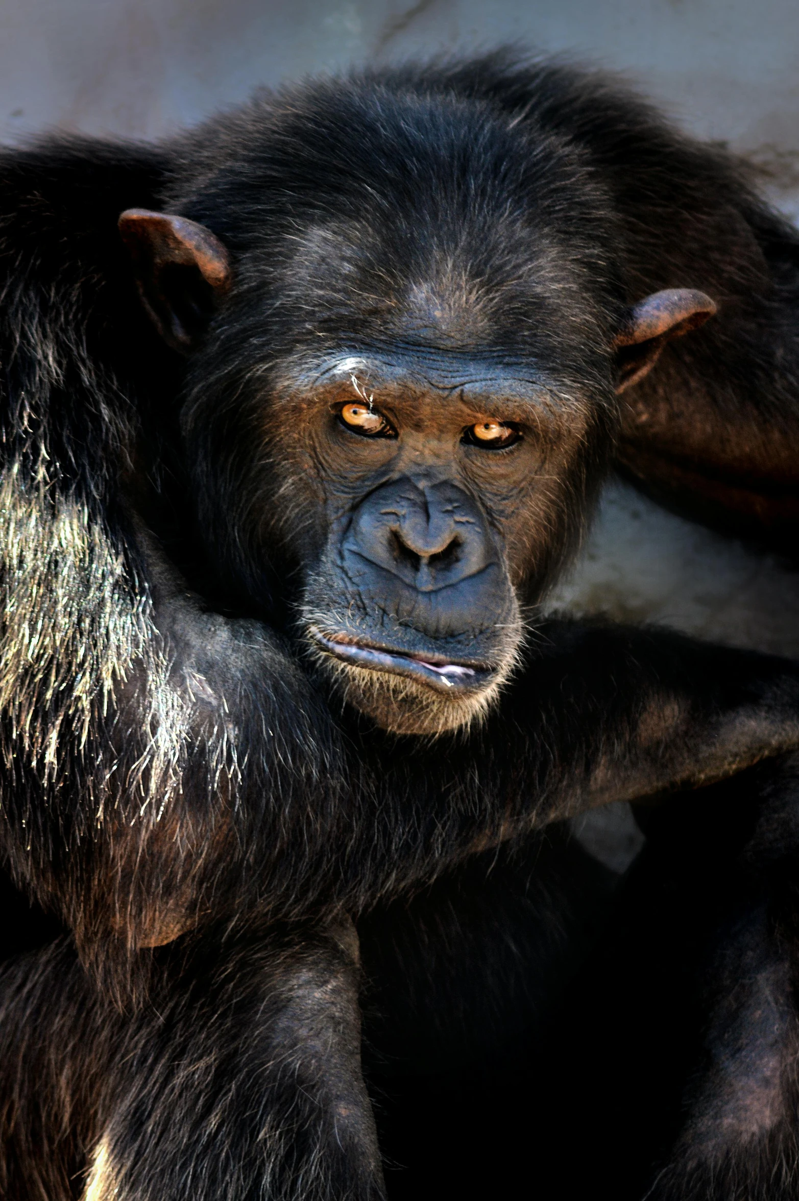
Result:
<svg viewBox="0 0 799 1201"><path fill-rule="evenodd" d="M494 561L485 519L455 484L401 479L358 507L342 545L347 569L366 560L419 592L435 592Z"/></svg>

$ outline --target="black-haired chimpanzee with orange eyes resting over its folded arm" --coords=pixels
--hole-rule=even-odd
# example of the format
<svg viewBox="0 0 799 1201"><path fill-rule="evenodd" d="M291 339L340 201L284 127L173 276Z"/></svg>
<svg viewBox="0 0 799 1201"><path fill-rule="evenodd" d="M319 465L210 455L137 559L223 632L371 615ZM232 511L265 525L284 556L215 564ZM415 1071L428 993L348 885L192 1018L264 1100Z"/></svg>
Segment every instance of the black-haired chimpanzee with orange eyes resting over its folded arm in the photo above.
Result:
<svg viewBox="0 0 799 1201"><path fill-rule="evenodd" d="M794 664L538 608L614 456L792 532L799 243L502 54L1 169L2 854L65 932L4 969L0 1187L380 1197L353 920L376 1060L502 1024L509 910L545 984L606 896L536 831L799 747Z"/></svg>

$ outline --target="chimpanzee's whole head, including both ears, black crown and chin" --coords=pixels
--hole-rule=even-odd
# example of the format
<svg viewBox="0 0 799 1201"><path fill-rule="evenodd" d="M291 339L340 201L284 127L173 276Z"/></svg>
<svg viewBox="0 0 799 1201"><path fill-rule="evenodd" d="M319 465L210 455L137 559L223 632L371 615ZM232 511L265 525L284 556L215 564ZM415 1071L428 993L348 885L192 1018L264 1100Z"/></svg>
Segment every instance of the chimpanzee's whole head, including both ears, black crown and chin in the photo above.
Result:
<svg viewBox="0 0 799 1201"><path fill-rule="evenodd" d="M469 723L579 540L616 393L712 301L625 303L612 198L531 113L360 77L183 159L168 213L120 228L186 355L215 562L383 728Z"/></svg>

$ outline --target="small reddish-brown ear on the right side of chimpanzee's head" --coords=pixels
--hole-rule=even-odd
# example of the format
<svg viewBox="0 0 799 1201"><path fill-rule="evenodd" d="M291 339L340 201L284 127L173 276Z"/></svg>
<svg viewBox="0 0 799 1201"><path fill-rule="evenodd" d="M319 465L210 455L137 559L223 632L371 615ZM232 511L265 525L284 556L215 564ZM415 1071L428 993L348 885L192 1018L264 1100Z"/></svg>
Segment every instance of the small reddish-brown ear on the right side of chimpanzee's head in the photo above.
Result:
<svg viewBox="0 0 799 1201"><path fill-rule="evenodd" d="M619 368L616 392L624 392L645 376L672 337L681 337L704 325L715 311L715 301L693 288L654 292L628 309L613 342Z"/></svg>

